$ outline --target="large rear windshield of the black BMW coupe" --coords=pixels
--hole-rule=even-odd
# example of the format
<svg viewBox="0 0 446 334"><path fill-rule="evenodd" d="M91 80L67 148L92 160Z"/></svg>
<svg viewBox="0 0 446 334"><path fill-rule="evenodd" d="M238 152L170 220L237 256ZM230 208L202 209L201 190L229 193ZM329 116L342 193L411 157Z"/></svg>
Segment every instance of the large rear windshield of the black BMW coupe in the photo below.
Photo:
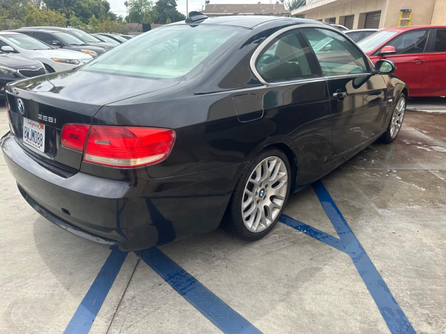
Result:
<svg viewBox="0 0 446 334"><path fill-rule="evenodd" d="M248 31L205 24L157 28L104 53L81 70L184 80L186 74L194 70L188 77L193 76L211 64Z"/></svg>

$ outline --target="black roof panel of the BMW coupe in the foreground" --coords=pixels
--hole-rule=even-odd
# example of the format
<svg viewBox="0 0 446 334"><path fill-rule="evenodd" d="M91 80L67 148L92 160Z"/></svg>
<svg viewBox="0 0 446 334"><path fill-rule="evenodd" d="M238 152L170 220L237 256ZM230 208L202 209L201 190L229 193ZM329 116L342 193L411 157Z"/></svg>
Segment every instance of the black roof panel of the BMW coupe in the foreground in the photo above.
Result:
<svg viewBox="0 0 446 334"><path fill-rule="evenodd" d="M238 15L238 16L213 16L207 17L195 22L186 23L185 21L175 22L173 24L219 24L231 25L235 27L252 29L256 25L273 20L293 21L294 24L323 24L320 21L309 19L298 19L286 16L266 16L266 15Z"/></svg>

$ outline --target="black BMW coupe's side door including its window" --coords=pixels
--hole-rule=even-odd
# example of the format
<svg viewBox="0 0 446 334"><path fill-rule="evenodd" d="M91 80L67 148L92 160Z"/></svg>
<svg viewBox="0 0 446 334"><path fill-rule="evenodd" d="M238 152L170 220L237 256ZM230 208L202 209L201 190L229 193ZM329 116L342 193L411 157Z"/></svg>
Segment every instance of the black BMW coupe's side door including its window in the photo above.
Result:
<svg viewBox="0 0 446 334"><path fill-rule="evenodd" d="M326 28L302 28L302 32L327 80L333 152L338 155L380 133L387 87L381 75L371 75L368 58L348 37ZM320 41L327 39L320 47Z"/></svg>

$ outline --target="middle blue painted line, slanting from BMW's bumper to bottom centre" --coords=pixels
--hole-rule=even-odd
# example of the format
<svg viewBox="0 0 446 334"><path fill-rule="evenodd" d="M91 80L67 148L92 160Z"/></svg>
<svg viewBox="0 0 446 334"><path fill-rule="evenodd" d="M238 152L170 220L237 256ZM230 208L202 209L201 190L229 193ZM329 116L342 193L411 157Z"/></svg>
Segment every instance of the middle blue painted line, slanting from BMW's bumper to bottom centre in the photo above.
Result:
<svg viewBox="0 0 446 334"><path fill-rule="evenodd" d="M153 247L135 253L140 254L141 259L150 268L189 301L201 314L222 330L223 333L261 333L248 320L231 309L229 305L161 252L160 249Z"/></svg>

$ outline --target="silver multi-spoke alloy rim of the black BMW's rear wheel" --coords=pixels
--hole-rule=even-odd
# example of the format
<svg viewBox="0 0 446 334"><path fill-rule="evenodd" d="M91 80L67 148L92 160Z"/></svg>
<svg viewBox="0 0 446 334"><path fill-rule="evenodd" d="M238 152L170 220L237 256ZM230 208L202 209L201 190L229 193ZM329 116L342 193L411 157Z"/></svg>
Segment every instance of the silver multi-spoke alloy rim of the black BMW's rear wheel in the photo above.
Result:
<svg viewBox="0 0 446 334"><path fill-rule="evenodd" d="M259 233L273 224L288 187L288 172L282 159L270 156L252 171L242 200L242 219L250 232Z"/></svg>

